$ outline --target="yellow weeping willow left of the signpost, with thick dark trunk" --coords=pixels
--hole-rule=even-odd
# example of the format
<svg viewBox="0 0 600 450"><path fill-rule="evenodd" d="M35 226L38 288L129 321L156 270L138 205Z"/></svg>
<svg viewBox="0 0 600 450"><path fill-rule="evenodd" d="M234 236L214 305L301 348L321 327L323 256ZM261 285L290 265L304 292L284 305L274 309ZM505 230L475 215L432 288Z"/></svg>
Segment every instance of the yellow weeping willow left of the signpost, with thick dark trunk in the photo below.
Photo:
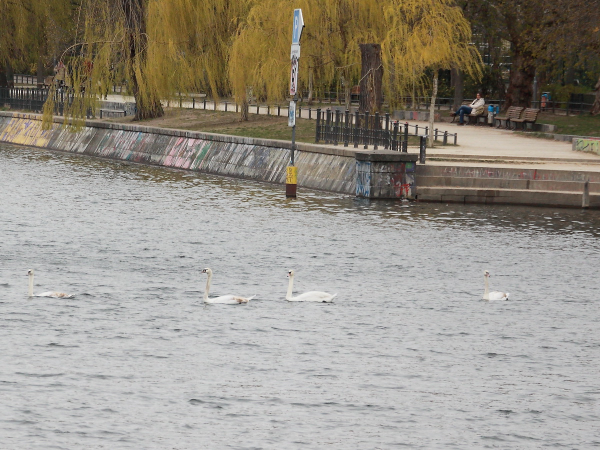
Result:
<svg viewBox="0 0 600 450"><path fill-rule="evenodd" d="M136 120L160 117L178 92L227 92L227 46L249 8L250 0L84 0L76 43L61 58L75 99L65 120L80 123L118 73Z"/></svg>

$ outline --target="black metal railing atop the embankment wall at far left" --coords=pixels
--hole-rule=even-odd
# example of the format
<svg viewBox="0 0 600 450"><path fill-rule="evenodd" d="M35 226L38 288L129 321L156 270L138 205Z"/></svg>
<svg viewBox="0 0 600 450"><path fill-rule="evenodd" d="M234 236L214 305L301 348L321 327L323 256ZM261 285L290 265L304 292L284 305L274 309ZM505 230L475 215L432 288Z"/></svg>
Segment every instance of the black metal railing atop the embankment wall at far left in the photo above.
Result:
<svg viewBox="0 0 600 450"><path fill-rule="evenodd" d="M50 95L44 88L0 88L0 107L41 113ZM54 115L62 116L65 104L73 103L73 94L54 92Z"/></svg>

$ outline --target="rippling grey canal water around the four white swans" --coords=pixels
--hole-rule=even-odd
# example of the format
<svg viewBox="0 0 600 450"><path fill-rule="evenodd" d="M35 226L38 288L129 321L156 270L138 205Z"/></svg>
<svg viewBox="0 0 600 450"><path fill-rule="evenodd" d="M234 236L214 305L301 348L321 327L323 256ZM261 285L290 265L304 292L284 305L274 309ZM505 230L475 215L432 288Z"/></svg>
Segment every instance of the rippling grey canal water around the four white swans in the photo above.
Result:
<svg viewBox="0 0 600 450"><path fill-rule="evenodd" d="M294 200L4 144L0 169L0 448L600 446L598 211ZM256 298L204 305L205 267ZM29 269L74 297L28 298ZM286 302L290 269L334 303Z"/></svg>

